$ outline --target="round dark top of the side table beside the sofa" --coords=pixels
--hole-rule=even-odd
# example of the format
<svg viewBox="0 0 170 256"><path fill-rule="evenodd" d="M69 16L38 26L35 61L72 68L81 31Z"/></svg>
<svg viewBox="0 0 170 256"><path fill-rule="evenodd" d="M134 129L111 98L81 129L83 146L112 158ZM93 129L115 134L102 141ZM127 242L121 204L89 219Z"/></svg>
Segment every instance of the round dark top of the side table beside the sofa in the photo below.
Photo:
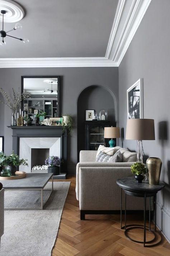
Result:
<svg viewBox="0 0 170 256"><path fill-rule="evenodd" d="M165 183L160 181L159 185L150 185L148 181L142 181L137 183L133 177L125 177L117 180L117 184L124 190L135 191L135 192L157 192L165 187Z"/></svg>

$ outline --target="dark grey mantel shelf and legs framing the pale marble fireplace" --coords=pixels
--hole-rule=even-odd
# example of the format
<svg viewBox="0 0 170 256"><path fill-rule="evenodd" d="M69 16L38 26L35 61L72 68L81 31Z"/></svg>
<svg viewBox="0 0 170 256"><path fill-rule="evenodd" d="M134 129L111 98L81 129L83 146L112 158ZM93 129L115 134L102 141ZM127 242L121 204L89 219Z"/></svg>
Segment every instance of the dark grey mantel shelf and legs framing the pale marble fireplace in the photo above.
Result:
<svg viewBox="0 0 170 256"><path fill-rule="evenodd" d="M62 126L8 126L13 130L13 151L19 155L20 138L61 138L60 152L63 165L61 172L67 173L67 129L62 132Z"/></svg>

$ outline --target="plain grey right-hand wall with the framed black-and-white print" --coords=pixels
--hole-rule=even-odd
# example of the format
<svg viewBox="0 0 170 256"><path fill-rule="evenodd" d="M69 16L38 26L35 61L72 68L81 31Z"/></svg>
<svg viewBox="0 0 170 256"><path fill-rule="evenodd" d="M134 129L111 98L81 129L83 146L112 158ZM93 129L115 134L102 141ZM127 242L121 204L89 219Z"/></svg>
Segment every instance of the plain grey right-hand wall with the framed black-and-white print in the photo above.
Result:
<svg viewBox="0 0 170 256"><path fill-rule="evenodd" d="M167 186L157 198L157 224L170 240L170 1L152 0L119 66L119 124L127 120L126 90L143 78L144 118L155 120L155 141L143 141L145 154L162 160ZM125 134L125 133L124 133ZM136 150L136 141L122 139Z"/></svg>

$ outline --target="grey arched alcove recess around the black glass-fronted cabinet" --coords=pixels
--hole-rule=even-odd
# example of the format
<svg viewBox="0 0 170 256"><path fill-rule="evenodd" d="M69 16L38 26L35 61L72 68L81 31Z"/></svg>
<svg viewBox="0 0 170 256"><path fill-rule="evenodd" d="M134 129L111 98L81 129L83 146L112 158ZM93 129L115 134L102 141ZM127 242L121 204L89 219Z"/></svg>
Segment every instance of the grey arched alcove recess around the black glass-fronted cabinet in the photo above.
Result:
<svg viewBox="0 0 170 256"><path fill-rule="evenodd" d="M77 160L80 150L85 149L86 109L95 109L99 113L101 109L108 111L110 125L116 126L117 99L112 90L106 86L90 85L83 89L77 97Z"/></svg>

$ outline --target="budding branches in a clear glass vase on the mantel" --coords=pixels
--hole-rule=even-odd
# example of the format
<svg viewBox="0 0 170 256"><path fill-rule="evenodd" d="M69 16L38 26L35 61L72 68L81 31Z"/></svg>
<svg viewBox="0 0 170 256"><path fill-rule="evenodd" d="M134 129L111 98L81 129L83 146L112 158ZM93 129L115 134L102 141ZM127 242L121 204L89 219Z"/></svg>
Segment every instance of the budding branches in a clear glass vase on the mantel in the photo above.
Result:
<svg viewBox="0 0 170 256"><path fill-rule="evenodd" d="M4 91L3 88L0 88L1 93L3 93L6 98L6 102L2 100L0 100L0 102L7 105L12 110L11 126L16 126L17 125L16 109L19 107L20 102L26 98L29 98L31 94L28 92L24 92L20 94L19 88L18 88L17 94L15 94L14 88L12 88L12 90L13 90L13 99L11 99L10 96L8 96L8 94ZM21 116L21 113L20 113L20 116ZM19 118L19 115L18 115L18 118ZM23 118L23 111L22 111L22 118Z"/></svg>

